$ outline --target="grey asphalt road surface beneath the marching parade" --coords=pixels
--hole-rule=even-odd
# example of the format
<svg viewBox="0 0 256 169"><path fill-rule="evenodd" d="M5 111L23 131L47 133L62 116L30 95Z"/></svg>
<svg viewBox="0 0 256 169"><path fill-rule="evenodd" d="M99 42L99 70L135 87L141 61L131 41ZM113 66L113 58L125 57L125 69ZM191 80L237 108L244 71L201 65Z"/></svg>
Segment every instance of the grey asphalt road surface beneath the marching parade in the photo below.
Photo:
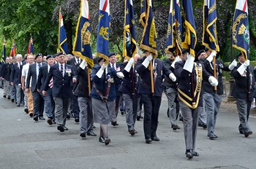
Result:
<svg viewBox="0 0 256 169"><path fill-rule="evenodd" d="M0 91L2 95L2 90ZM185 157L183 125L173 132L166 116L167 100L162 99L158 136L153 144L145 144L143 122L136 122L138 134L130 136L125 117L118 117L118 127L109 127L111 143L100 144L98 137L79 138L79 125L67 121L68 131L60 133L56 125L34 122L23 108L0 97L0 168L256 168L256 136L238 133L238 115L221 109L217 117L215 141L206 130L197 132L200 157ZM99 133L99 125L95 133ZM256 119L249 125L256 132Z"/></svg>

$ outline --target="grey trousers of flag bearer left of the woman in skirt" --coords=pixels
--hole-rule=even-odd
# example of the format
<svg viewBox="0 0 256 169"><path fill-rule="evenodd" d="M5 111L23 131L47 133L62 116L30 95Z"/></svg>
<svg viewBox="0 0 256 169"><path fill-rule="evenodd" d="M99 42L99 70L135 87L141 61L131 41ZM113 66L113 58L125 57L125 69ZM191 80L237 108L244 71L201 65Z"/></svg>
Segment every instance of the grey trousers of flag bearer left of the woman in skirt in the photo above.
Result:
<svg viewBox="0 0 256 169"><path fill-rule="evenodd" d="M80 133L92 130L94 122L92 111L89 106L89 98L78 97Z"/></svg>

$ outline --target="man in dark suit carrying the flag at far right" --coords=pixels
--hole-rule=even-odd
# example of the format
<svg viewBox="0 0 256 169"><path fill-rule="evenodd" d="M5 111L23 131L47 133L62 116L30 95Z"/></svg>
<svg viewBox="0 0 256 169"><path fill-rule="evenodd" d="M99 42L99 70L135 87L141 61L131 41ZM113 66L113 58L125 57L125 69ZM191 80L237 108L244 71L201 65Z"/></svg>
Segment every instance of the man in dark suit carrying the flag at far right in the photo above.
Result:
<svg viewBox="0 0 256 169"><path fill-rule="evenodd" d="M235 85L231 95L236 98L238 117L240 119L239 132L247 138L249 135L252 135L252 130L248 125L248 119L253 101L255 74L254 68L249 65L249 60L244 58L244 53L239 53L237 58L239 63L233 68L231 73L235 79Z"/></svg>

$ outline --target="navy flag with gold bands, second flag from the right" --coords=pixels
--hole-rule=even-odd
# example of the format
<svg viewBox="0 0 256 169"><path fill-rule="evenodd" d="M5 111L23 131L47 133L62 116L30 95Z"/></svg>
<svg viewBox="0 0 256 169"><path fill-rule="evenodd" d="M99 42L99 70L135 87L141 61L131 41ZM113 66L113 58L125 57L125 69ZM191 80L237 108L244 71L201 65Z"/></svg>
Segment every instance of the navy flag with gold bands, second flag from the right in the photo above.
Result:
<svg viewBox="0 0 256 169"><path fill-rule="evenodd" d="M219 52L217 38L217 9L216 0L204 0L203 7L203 45L210 51Z"/></svg>

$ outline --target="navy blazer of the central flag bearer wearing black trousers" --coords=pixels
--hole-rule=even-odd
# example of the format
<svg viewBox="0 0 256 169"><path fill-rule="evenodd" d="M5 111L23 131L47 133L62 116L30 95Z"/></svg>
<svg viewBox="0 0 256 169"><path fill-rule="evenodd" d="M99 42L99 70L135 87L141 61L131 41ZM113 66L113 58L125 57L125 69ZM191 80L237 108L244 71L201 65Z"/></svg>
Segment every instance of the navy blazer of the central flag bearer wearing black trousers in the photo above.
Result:
<svg viewBox="0 0 256 169"><path fill-rule="evenodd" d="M143 66L143 61L146 59L146 56L143 58L139 58L138 62L136 63L136 71L138 74L140 74L140 84L139 84L139 90L138 93L140 94L147 94L151 95L151 74L148 68ZM153 60L152 60L153 62ZM154 63L156 65L156 73L157 78L154 82L154 96L162 97L162 79L163 76L169 76L169 74L172 72L170 69L166 68L162 60L154 59ZM153 75L154 77L154 75Z"/></svg>

